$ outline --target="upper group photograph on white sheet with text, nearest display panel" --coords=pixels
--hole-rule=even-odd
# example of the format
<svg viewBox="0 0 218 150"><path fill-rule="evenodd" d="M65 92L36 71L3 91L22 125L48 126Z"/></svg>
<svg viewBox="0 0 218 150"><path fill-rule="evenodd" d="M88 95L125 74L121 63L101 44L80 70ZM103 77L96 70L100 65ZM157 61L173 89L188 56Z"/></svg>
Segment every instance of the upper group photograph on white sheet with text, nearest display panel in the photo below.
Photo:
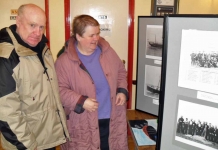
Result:
<svg viewBox="0 0 218 150"><path fill-rule="evenodd" d="M218 94L218 31L182 30L178 86Z"/></svg>

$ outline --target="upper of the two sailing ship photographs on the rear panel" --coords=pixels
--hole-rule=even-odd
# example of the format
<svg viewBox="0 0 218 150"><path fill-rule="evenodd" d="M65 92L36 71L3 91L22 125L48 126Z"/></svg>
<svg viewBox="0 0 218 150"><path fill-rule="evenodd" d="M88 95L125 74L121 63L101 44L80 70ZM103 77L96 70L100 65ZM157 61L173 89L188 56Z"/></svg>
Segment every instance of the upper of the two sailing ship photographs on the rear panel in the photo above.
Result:
<svg viewBox="0 0 218 150"><path fill-rule="evenodd" d="M162 60L162 25L147 25L145 57Z"/></svg>

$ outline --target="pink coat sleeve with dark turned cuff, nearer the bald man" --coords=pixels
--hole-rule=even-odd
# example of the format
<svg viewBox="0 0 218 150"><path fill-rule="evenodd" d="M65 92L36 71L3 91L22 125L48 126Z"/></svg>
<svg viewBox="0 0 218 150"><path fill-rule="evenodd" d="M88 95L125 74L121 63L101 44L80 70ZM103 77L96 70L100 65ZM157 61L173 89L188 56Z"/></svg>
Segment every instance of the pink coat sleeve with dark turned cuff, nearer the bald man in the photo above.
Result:
<svg viewBox="0 0 218 150"><path fill-rule="evenodd" d="M83 96L74 91L70 85L70 76L68 74L72 68L67 67L66 55L60 56L55 62L55 70L58 78L59 92L62 105L64 107L66 115L69 115L71 111L76 113L84 112L83 104L87 96ZM68 116L67 116L68 117Z"/></svg>

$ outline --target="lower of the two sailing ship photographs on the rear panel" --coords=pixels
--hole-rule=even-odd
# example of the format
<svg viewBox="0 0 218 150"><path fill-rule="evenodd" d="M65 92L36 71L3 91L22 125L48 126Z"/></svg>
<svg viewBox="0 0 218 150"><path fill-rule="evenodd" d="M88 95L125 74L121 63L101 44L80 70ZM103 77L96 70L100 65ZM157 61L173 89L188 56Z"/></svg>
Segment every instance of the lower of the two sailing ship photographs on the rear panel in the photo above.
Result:
<svg viewBox="0 0 218 150"><path fill-rule="evenodd" d="M145 65L145 96L159 99L161 67Z"/></svg>

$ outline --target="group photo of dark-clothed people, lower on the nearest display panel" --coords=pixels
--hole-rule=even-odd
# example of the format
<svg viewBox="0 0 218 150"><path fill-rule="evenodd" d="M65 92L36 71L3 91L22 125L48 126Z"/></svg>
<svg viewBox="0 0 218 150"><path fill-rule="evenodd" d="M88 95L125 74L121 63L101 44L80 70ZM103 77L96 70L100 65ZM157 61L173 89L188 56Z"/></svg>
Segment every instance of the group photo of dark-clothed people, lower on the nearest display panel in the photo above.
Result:
<svg viewBox="0 0 218 150"><path fill-rule="evenodd" d="M218 108L179 100L175 140L206 150L218 149Z"/></svg>

